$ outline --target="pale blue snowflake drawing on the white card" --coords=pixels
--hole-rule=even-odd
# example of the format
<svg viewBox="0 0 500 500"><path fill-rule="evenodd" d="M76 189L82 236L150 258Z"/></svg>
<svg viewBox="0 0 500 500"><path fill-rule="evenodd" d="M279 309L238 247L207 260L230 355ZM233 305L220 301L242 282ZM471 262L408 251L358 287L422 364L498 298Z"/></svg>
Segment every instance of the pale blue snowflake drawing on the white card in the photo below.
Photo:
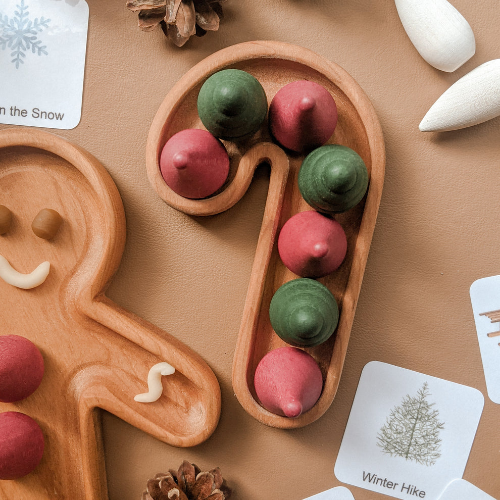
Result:
<svg viewBox="0 0 500 500"><path fill-rule="evenodd" d="M30 20L28 6L24 0L21 0L16 8L12 18L0 12L0 47L3 50L11 49L11 57L14 58L11 63L19 69L19 66L24 64L29 50L38 56L48 54L45 50L47 46L42 45L42 41L38 39L38 33L47 28L51 20L44 17Z"/></svg>

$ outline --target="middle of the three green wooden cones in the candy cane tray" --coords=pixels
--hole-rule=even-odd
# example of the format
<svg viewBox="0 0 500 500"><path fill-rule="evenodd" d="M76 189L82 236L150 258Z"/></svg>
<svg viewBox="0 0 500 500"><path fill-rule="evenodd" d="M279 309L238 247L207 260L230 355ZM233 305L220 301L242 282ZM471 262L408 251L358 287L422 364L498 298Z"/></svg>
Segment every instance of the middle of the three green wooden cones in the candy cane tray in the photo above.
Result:
<svg viewBox="0 0 500 500"><path fill-rule="evenodd" d="M368 188L368 170L363 159L350 147L326 144L304 159L297 184L311 207L337 214L361 201Z"/></svg>

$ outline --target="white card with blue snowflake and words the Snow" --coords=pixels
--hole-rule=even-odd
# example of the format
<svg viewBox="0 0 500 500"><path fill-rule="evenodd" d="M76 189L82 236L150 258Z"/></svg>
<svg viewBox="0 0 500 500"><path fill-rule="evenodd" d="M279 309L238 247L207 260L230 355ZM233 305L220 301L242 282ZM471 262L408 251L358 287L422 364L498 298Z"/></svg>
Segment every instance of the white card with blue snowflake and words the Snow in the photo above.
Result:
<svg viewBox="0 0 500 500"><path fill-rule="evenodd" d="M0 2L0 123L78 125L87 29L85 0Z"/></svg>

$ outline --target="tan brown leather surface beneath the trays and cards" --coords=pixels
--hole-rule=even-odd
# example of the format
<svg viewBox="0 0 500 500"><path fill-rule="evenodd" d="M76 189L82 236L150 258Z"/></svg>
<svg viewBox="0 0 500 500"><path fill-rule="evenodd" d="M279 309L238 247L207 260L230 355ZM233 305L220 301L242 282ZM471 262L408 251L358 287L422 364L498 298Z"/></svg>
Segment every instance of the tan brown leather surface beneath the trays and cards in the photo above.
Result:
<svg viewBox="0 0 500 500"><path fill-rule="evenodd" d="M371 360L482 391L484 412L464 479L500 497L500 406L486 394L469 299L474 280L500 273L500 118L455 132L418 131L449 85L499 57L500 9L498 0L452 3L469 21L477 48L448 74L419 56L392 0L228 0L221 29L183 48L170 45L161 31L139 31L125 0L88 0L82 120L56 132L101 161L123 197L127 244L108 295L201 354L223 396L216 432L187 449L105 414L111 500L138 500L149 477L183 459L202 469L221 467L234 500L302 500L341 485L333 466L361 370ZM387 151L384 193L337 395L322 418L291 431L249 417L231 387L265 175L258 173L228 212L193 218L157 196L144 165L149 126L173 84L218 49L261 39L305 46L348 71L378 113ZM349 489L356 500L389 498Z"/></svg>

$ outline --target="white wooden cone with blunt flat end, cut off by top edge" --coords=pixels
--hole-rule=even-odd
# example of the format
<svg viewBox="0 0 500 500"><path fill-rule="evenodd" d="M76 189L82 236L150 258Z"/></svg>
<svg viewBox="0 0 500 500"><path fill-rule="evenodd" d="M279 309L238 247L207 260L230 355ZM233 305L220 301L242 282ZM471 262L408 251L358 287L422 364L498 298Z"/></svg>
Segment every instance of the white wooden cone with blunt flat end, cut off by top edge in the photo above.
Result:
<svg viewBox="0 0 500 500"><path fill-rule="evenodd" d="M399 19L418 53L451 73L476 52L472 28L446 0L394 0Z"/></svg>

